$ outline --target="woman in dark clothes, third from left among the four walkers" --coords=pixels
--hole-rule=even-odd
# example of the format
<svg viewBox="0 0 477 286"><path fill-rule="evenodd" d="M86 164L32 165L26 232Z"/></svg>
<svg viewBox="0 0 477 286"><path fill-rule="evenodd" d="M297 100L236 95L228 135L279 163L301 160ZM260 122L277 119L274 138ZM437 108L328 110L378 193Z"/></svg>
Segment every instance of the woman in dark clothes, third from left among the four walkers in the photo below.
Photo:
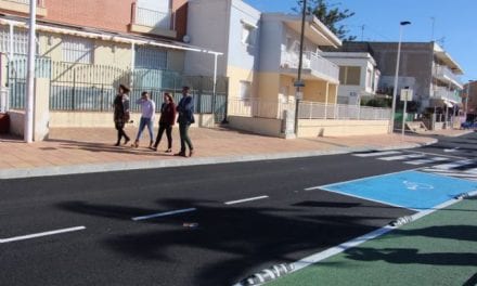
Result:
<svg viewBox="0 0 477 286"><path fill-rule="evenodd" d="M168 93L164 93L164 102L160 106L159 130L157 131L156 142L151 147L153 151L157 151L157 146L163 139L164 131L167 136L167 150L166 153L172 152L172 126L176 121L176 104L173 98Z"/></svg>

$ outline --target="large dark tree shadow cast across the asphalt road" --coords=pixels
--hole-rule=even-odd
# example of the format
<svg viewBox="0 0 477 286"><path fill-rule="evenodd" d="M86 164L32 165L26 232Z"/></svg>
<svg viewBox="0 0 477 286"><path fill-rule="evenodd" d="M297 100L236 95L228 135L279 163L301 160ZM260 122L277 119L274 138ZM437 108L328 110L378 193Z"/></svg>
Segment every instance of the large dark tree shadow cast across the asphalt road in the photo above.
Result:
<svg viewBox="0 0 477 286"><path fill-rule="evenodd" d="M137 224L132 231L128 227L124 234L103 237L100 243L133 261L150 261L155 266L147 271L154 271L156 276L181 275L173 285L231 285L272 264L293 262L369 233L376 224L385 224L396 217L389 210L376 216L339 211L353 208L346 203L333 204L337 207L335 213L320 211L318 206L310 208L307 204L299 208L225 206L191 199L160 199L157 204L169 210L185 207L197 210L131 221ZM67 211L119 220L157 212L157 209L83 202L57 206ZM198 223L198 226L184 227L184 222Z"/></svg>

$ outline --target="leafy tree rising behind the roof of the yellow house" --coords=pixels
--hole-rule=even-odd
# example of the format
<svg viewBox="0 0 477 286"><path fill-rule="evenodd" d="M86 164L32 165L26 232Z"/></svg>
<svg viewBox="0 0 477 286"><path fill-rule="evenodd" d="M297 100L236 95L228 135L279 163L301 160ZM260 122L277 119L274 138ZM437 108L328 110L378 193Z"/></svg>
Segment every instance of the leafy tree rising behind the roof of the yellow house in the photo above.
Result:
<svg viewBox="0 0 477 286"><path fill-rule="evenodd" d="M356 36L348 36L349 30L344 25L338 23L345 18L354 15L354 12L348 9L339 10L340 3L330 3L327 0L307 0L307 13L314 15L320 20L331 31L333 31L340 40L352 41ZM295 12L301 12L304 0L297 0L298 6L294 9Z"/></svg>

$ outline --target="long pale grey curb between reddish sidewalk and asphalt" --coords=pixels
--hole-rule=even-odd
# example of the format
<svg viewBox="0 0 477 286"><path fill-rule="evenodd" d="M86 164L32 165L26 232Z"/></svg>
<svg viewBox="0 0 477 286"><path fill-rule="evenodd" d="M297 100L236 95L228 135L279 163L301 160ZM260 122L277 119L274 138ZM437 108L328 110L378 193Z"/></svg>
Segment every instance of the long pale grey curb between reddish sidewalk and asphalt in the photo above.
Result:
<svg viewBox="0 0 477 286"><path fill-rule="evenodd" d="M215 165L215 164L231 164L231 162L246 162L258 160L278 160L289 158L317 157L325 155L339 155L353 152L366 151L388 151L388 150L403 150L426 146L436 143L438 140L433 139L427 143L413 143L405 145L391 145L386 147L343 147L331 151L307 151L307 152L289 152L289 153L272 153L258 155L242 155L242 156L221 156L221 157L204 157L193 159L169 159L169 160L139 160L129 162L107 162L107 164L85 164L85 165L69 165L55 167L36 167L24 169L3 169L0 170L0 180L7 179L24 179L34 177L51 177L51 176L66 176L66 174L86 174L111 171L129 171L129 170L146 170L171 167L188 167L199 165Z"/></svg>

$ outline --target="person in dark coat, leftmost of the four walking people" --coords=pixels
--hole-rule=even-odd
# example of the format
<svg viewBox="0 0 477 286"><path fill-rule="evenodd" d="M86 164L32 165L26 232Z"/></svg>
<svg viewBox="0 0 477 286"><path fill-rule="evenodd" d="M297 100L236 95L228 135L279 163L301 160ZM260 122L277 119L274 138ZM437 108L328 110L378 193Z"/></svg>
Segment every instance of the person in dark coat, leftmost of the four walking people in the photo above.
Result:
<svg viewBox="0 0 477 286"><path fill-rule="evenodd" d="M125 132L125 125L129 121L129 89L120 84L118 93L113 102L114 107L114 123L117 130L117 142L115 146L119 146L121 139L125 138L125 145L130 141Z"/></svg>

